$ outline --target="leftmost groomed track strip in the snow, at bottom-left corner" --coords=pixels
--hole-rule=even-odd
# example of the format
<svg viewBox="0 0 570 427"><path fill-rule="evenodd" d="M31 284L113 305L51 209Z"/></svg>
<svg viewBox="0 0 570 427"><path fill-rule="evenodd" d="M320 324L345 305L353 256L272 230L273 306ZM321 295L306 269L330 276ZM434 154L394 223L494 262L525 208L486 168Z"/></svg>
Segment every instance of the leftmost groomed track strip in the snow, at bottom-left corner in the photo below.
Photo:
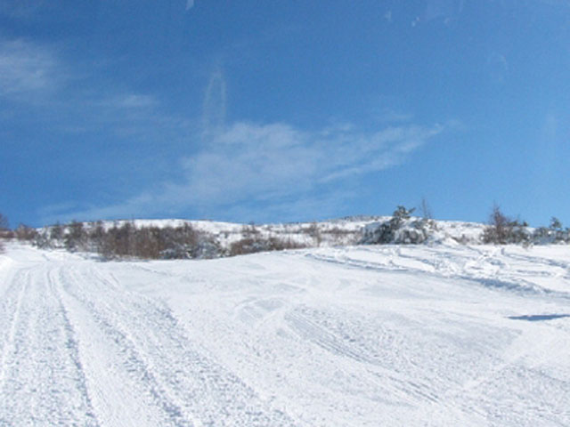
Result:
<svg viewBox="0 0 570 427"><path fill-rule="evenodd" d="M12 344L4 350L0 425L98 427L49 270L39 265L20 275Z"/></svg>

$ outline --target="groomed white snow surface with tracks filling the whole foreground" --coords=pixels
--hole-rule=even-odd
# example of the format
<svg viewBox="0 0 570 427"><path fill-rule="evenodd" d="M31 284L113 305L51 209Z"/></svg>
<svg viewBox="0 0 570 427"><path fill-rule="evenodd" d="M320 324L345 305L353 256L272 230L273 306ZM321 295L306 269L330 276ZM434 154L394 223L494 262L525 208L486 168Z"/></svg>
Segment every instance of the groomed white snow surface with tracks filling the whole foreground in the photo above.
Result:
<svg viewBox="0 0 570 427"><path fill-rule="evenodd" d="M0 255L0 426L568 426L568 246Z"/></svg>

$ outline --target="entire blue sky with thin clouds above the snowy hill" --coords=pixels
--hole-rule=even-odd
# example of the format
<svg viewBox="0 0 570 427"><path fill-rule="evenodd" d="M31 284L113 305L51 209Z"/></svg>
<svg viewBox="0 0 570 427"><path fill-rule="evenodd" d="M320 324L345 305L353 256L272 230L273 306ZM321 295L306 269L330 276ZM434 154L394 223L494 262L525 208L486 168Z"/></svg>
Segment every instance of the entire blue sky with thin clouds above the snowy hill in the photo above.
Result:
<svg viewBox="0 0 570 427"><path fill-rule="evenodd" d="M0 0L11 220L570 225L570 1Z"/></svg>

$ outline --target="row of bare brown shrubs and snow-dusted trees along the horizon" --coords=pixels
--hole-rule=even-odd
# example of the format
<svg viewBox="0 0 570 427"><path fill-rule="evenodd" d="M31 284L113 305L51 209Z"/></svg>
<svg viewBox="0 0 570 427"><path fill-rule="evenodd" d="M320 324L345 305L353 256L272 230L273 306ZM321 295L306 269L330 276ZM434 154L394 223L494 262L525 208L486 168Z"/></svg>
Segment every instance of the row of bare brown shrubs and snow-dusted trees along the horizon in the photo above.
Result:
<svg viewBox="0 0 570 427"><path fill-rule="evenodd" d="M422 202L422 219L413 219L413 209L398 206L391 219L374 230L366 229L360 243L422 243L430 233L436 230L436 223L429 219L428 205ZM429 213L429 214L428 214ZM401 230L403 225L406 230ZM409 229L409 230L408 230ZM65 225L55 224L36 230L20 224L10 230L8 219L0 214L0 252L4 251L3 240L16 238L28 241L40 247L61 247L69 251L87 251L101 254L106 259L134 257L141 259L181 259L215 258L256 252L296 249L307 246L320 246L323 238L327 242L343 244L354 239L354 231L338 228L322 229L313 223L299 229L309 240L292 240L262 233L254 224L244 226L241 238L223 248L212 234L195 230L189 223L177 227L140 227L134 222L70 222ZM345 233L348 233L345 236ZM481 236L485 244L570 244L570 229L563 228L555 217L548 227L531 229L526 222L513 219L501 212L498 205L493 206L488 225ZM345 243L346 244L346 243Z"/></svg>

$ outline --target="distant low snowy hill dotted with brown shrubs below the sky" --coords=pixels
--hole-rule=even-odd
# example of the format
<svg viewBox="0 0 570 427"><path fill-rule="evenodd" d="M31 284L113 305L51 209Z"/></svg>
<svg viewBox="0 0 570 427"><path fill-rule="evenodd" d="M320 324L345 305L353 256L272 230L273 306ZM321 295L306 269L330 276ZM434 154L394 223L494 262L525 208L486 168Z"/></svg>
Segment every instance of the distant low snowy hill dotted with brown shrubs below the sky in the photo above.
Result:
<svg viewBox="0 0 570 427"><path fill-rule="evenodd" d="M238 224L189 220L72 222L36 231L38 247L98 252L103 256L216 258L302 247L379 243L376 230L392 217L349 217L323 222ZM484 226L408 218L382 243L481 243ZM411 236L411 238L409 238ZM414 237L421 236L420 241Z"/></svg>

